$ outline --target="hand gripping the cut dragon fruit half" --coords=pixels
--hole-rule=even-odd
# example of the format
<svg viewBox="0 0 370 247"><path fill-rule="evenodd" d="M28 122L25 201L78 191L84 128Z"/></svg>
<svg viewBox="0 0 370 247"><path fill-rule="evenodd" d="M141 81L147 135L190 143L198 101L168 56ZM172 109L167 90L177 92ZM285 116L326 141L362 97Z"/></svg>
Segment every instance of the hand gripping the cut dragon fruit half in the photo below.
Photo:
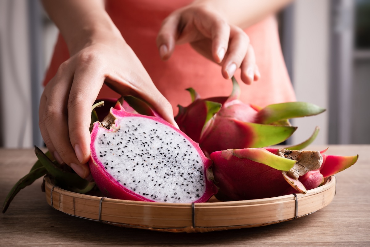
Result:
<svg viewBox="0 0 370 247"><path fill-rule="evenodd" d="M91 106L106 82L121 95L136 95L176 125L172 107L120 35L104 33L60 65L41 96L39 125L47 148L59 163L83 178L90 174Z"/></svg>

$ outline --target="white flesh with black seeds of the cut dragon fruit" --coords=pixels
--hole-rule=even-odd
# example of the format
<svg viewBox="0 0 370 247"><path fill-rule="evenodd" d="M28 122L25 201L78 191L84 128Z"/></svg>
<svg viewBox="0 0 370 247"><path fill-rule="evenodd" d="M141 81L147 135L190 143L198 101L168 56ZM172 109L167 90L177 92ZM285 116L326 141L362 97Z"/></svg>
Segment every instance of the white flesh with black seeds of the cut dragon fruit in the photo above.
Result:
<svg viewBox="0 0 370 247"><path fill-rule="evenodd" d="M118 182L156 202L194 202L205 193L198 150L171 127L150 118L127 116L110 130L100 127L97 158Z"/></svg>

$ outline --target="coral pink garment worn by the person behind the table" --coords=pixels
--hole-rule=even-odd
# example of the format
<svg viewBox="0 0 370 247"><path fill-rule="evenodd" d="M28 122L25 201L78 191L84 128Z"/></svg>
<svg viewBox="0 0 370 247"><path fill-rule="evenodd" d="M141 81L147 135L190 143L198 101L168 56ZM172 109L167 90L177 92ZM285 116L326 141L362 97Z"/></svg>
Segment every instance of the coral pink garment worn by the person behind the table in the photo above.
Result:
<svg viewBox="0 0 370 247"><path fill-rule="evenodd" d="M221 67L196 53L189 44L177 45L168 61L162 61L159 57L155 39L162 21L172 11L190 2L190 0L106 0L107 13L159 91L171 102L174 112L177 112L178 104L186 106L191 102L186 88L194 88L202 98L226 96L232 89L231 80L222 77ZM245 103L259 106L295 101L280 48L275 18L270 16L247 28L245 32L255 49L261 78L252 85L245 85L240 79L240 70L237 70L235 78L242 89L240 99ZM59 65L68 58L67 46L63 37L59 35L44 85L53 78ZM104 86L99 97L118 97L118 95Z"/></svg>

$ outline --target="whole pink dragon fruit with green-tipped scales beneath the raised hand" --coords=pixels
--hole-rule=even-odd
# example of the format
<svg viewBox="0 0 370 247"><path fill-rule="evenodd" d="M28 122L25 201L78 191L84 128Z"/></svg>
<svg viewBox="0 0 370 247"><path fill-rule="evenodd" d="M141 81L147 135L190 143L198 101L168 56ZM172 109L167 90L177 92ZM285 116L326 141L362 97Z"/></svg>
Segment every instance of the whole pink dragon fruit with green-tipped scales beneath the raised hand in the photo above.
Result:
<svg viewBox="0 0 370 247"><path fill-rule="evenodd" d="M186 133L209 156L210 153L231 148L262 148L289 138L296 130L287 119L319 114L325 109L306 102L287 102L260 108L244 104L238 98L240 88L232 78L229 97L201 99L194 89L188 91L192 103L179 106L175 117L181 131Z"/></svg>

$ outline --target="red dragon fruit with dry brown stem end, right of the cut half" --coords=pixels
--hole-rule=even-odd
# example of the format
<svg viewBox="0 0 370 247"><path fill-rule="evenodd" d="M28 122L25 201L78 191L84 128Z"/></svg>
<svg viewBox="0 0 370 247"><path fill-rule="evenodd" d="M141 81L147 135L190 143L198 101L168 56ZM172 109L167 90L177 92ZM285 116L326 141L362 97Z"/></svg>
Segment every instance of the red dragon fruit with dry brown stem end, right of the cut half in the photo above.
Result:
<svg viewBox="0 0 370 247"><path fill-rule="evenodd" d="M248 200L307 193L344 170L358 156L274 148L228 149L211 153L220 200Z"/></svg>

